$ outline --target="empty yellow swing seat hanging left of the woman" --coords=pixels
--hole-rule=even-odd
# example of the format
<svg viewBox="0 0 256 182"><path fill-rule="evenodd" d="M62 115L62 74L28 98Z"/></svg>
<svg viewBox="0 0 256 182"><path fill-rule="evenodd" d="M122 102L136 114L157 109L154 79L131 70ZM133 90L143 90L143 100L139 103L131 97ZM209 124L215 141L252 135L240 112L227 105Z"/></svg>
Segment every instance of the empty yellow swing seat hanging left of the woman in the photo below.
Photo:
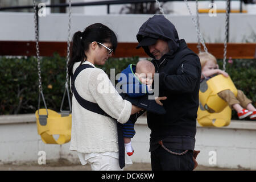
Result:
<svg viewBox="0 0 256 182"><path fill-rule="evenodd" d="M47 116L48 111L48 116ZM61 117L61 114L50 109L36 110L36 126L38 134L46 144L64 144L71 140L72 114ZM53 135L59 135L56 140Z"/></svg>

